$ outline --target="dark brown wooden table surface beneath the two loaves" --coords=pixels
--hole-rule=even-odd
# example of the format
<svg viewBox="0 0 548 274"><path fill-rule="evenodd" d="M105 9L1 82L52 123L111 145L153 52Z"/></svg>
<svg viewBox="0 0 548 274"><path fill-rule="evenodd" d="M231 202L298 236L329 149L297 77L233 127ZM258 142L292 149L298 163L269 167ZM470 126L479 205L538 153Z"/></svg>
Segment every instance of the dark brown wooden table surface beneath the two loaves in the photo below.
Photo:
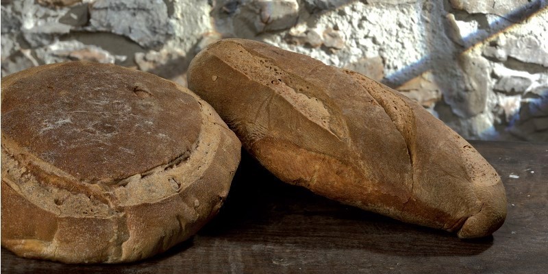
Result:
<svg viewBox="0 0 548 274"><path fill-rule="evenodd" d="M503 179L493 236L400 223L289 186L244 155L219 216L197 236L133 264L67 265L1 251L2 273L548 273L548 143L472 142ZM519 176L512 178L510 175Z"/></svg>

